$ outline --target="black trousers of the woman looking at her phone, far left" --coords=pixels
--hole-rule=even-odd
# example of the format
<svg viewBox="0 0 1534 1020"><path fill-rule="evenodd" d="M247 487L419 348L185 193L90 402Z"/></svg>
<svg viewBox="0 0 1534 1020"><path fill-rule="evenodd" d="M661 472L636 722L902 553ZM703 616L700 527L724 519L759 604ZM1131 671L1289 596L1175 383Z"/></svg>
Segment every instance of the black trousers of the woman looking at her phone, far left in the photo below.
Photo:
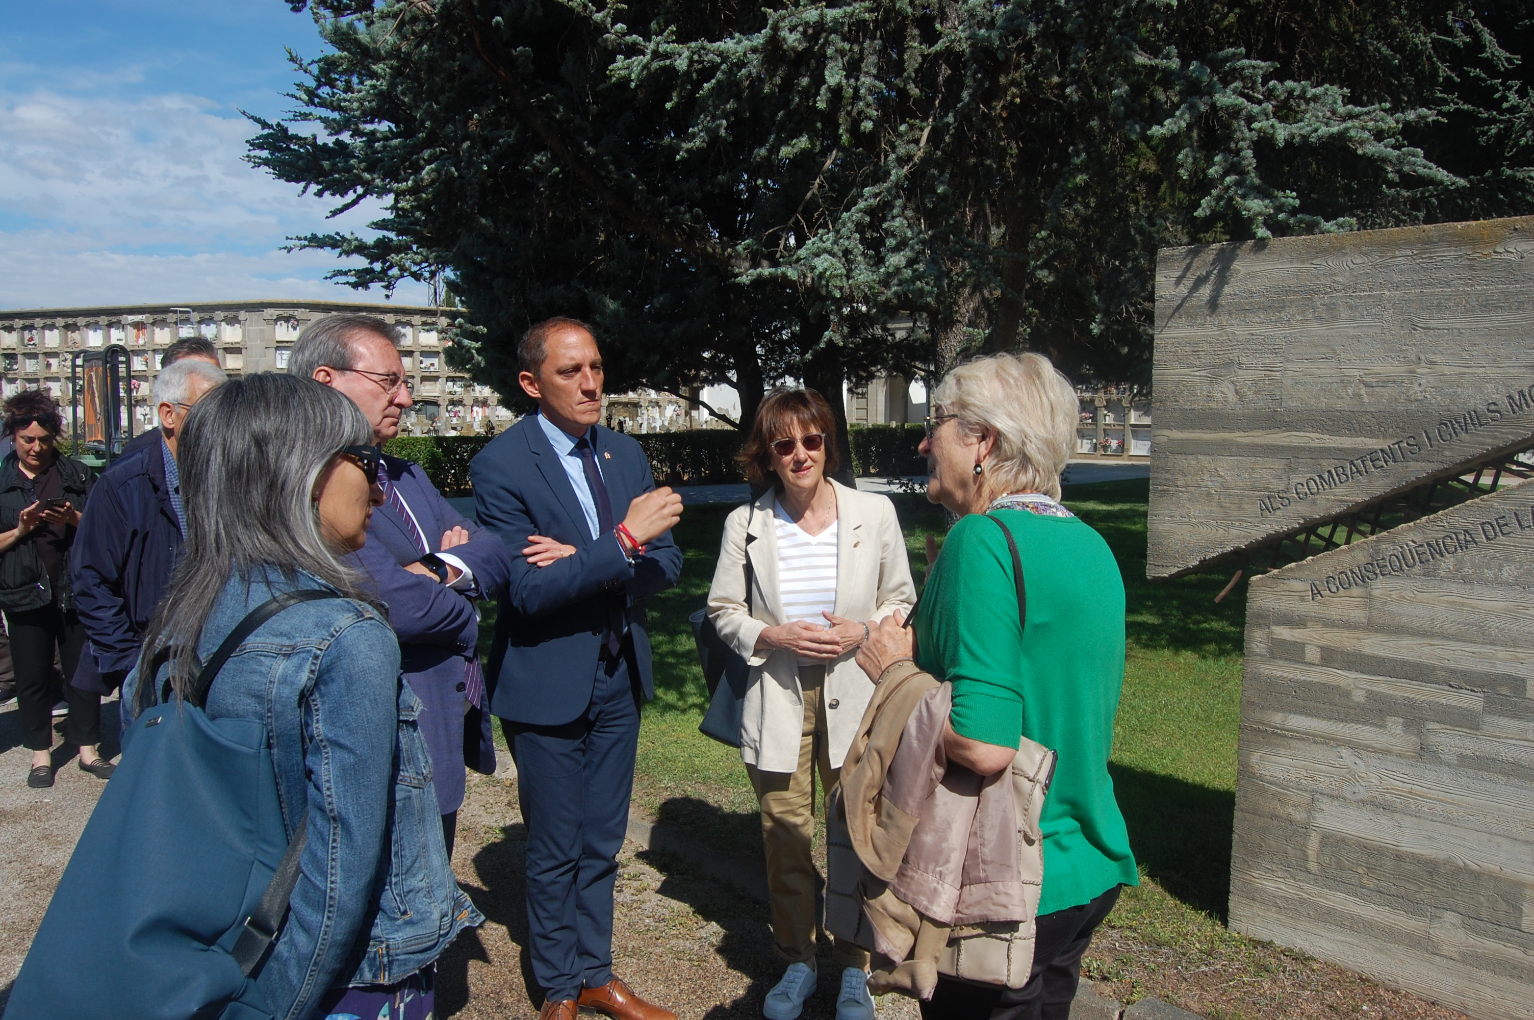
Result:
<svg viewBox="0 0 1534 1020"><path fill-rule="evenodd" d="M74 612L43 606L5 615L11 632L11 661L15 669L15 701L21 715L21 742L28 750L46 752L54 745L54 650L64 667L64 698L69 721L64 742L101 742L101 695L80 690L69 683L80 664L86 630Z"/></svg>

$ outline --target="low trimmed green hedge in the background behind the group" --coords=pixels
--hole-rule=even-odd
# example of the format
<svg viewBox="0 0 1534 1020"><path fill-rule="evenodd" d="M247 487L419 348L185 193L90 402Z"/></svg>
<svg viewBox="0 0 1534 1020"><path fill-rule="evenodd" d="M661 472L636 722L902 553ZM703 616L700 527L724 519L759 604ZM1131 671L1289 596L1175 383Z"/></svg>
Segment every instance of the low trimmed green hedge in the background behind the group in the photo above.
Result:
<svg viewBox="0 0 1534 1020"><path fill-rule="evenodd" d="M858 426L848 437L854 474L927 474L927 460L916 452L922 442L920 425ZM657 485L730 485L746 480L735 463L746 439L733 428L650 433L634 439L644 448ZM384 443L384 449L425 468L426 477L443 495L468 495L472 492L469 460L489 440L489 436L400 436Z"/></svg>

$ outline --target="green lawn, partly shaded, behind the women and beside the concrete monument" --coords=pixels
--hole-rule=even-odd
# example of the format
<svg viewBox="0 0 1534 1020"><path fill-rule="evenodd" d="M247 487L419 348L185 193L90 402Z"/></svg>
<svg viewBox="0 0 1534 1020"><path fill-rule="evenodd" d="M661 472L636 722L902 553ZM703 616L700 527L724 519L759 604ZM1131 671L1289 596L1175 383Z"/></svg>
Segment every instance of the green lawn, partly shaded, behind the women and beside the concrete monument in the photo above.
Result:
<svg viewBox="0 0 1534 1020"><path fill-rule="evenodd" d="M1068 486L1065 502L1103 534L1127 594L1129 655L1112 775L1144 885L1109 923L1169 943L1229 939L1230 830L1246 586L1221 604L1229 580L1195 575L1146 581L1149 483ZM943 514L922 495L893 497L911 571L927 574L925 535ZM692 506L675 531L686 551L681 581L650 600L657 695L640 732L635 807L687 825L721 853L759 854L756 802L739 752L698 733L707 693L687 615L704 604L730 506Z"/></svg>

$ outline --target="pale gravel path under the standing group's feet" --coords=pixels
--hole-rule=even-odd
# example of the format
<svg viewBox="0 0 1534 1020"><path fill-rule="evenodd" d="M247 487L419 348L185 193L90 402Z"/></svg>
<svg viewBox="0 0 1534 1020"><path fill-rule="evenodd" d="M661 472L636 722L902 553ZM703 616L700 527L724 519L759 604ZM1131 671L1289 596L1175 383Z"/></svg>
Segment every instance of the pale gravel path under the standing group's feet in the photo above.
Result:
<svg viewBox="0 0 1534 1020"><path fill-rule="evenodd" d="M117 702L103 706L103 732L117 733ZM101 793L74 753L51 790L31 790L31 753L20 745L15 702L0 707L0 1009L75 841ZM117 749L104 749L115 756ZM537 1017L523 913L523 848L515 784L469 775L454 870L488 922L462 936L439 965L437 1015L465 1020ZM678 1017L723 1020L761 1015L761 999L781 976L765 908L667 856L626 844L618 880L617 971L640 994ZM830 1020L839 972L824 948L825 976L805 1020ZM914 1003L887 999L881 1017L916 1020Z"/></svg>

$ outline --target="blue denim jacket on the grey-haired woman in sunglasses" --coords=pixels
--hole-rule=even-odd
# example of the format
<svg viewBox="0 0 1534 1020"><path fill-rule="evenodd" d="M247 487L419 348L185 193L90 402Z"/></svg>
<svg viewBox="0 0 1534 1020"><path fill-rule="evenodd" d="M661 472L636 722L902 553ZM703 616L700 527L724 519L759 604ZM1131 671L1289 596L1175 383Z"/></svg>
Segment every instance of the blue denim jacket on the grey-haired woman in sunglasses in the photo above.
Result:
<svg viewBox="0 0 1534 1020"><path fill-rule="evenodd" d="M325 587L301 574L230 578L202 627L202 661L273 595ZM137 707L138 672L123 686ZM359 601L291 606L264 623L213 681L210 718L267 724L282 818L308 813L287 925L258 985L276 1017L301 1020L336 985L382 985L433 963L485 917L459 888L442 839L420 701L399 643Z"/></svg>

